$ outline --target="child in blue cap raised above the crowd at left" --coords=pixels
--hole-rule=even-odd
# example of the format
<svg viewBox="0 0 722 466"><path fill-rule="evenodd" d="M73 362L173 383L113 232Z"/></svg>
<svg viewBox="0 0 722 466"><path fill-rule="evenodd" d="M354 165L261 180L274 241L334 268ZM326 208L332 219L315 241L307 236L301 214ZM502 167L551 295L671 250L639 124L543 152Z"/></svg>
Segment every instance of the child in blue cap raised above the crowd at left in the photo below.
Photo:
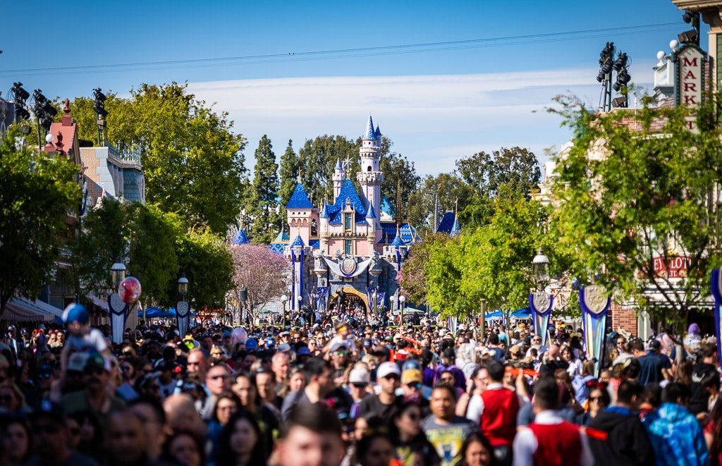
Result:
<svg viewBox="0 0 722 466"><path fill-rule="evenodd" d="M75 351L95 351L106 358L110 356L103 332L90 327L90 314L82 304L69 304L63 311L63 323L68 330L68 338L60 355L63 371L66 370L69 356Z"/></svg>

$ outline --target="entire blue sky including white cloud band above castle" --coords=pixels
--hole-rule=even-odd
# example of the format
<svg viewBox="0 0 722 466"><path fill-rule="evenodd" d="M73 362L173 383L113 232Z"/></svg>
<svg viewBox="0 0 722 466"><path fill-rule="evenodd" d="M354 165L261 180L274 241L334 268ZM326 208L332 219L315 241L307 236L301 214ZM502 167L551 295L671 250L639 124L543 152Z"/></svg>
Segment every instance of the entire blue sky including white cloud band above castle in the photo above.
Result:
<svg viewBox="0 0 722 466"><path fill-rule="evenodd" d="M3 12L3 94L14 81L48 97L188 82L230 113L249 165L263 134L280 157L288 139L297 149L360 136L371 113L422 174L502 146L543 162L568 132L538 110L556 94L599 105L606 40L630 56L632 82L651 87L657 50L689 29L669 0L15 1ZM372 50L316 53L358 48ZM229 57L243 58L207 60ZM75 68L159 61L190 62Z"/></svg>

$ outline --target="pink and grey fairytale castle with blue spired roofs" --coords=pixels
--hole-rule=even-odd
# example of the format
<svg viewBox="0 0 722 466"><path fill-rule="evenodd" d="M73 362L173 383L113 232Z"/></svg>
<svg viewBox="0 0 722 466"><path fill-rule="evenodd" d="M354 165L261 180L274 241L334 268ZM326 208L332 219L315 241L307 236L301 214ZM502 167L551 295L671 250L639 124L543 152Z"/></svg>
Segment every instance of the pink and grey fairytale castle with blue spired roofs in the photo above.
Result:
<svg viewBox="0 0 722 466"><path fill-rule="evenodd" d="M370 116L359 157L360 191L347 177L351 161L336 161L333 203L314 206L296 183L286 206L288 236L279 234L270 245L291 265L290 309L306 304L319 311L357 309L369 316L382 305L396 309L396 278L419 236L400 215L393 219L381 210L381 132Z"/></svg>

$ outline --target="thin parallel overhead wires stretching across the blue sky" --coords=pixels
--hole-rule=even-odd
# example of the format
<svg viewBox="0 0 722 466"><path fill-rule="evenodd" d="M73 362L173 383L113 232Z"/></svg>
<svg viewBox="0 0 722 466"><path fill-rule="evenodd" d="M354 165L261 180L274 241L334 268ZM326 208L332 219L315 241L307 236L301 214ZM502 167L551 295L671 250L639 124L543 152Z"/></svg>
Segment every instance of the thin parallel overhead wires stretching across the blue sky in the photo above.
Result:
<svg viewBox="0 0 722 466"><path fill-rule="evenodd" d="M262 55L194 58L187 60L144 61L136 63L106 63L84 66L55 66L47 68L0 70L0 76L23 74L38 76L43 74L95 74L119 71L148 71L157 69L193 69L218 66L240 66L260 63L280 63L295 61L318 61L338 58L357 58L365 56L406 55L410 53L429 53L448 50L464 50L474 48L494 48L508 45L524 45L529 43L548 43L566 40L601 38L610 32L616 35L640 35L651 32L677 30L677 22L658 23L653 25L637 25L624 27L606 27L601 29L547 32L542 34L510 35L495 38L478 38L469 40L448 40L443 42L415 43L401 45L381 45L378 47L342 48L331 50L311 50L290 53L269 53Z"/></svg>

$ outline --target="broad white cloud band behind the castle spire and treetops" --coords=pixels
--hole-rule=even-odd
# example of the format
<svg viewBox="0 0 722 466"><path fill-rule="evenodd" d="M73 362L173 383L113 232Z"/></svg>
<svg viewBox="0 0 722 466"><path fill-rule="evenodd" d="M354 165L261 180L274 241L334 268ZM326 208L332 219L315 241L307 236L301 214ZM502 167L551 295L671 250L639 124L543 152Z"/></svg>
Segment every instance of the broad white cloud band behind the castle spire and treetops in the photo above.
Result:
<svg viewBox="0 0 722 466"><path fill-rule="evenodd" d="M542 111L557 94L593 102L595 69L431 76L336 76L196 82L191 92L216 102L249 141L266 134L281 154L323 134L355 138L368 114L414 159L422 174L448 172L453 162L501 146L529 147L541 158L568 133ZM591 97L586 97L591 96ZM252 157L248 157L253 164Z"/></svg>

